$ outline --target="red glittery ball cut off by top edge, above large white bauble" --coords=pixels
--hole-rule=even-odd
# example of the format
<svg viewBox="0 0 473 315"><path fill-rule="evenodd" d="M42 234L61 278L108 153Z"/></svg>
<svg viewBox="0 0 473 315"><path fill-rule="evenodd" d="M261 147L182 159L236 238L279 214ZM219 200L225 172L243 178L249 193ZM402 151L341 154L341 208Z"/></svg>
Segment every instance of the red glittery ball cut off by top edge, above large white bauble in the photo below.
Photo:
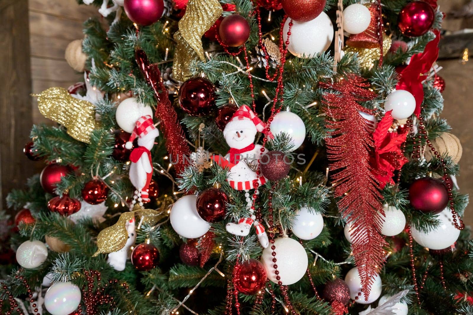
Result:
<svg viewBox="0 0 473 315"><path fill-rule="evenodd" d="M318 17L326 0L282 0L282 9L294 21L307 22Z"/></svg>

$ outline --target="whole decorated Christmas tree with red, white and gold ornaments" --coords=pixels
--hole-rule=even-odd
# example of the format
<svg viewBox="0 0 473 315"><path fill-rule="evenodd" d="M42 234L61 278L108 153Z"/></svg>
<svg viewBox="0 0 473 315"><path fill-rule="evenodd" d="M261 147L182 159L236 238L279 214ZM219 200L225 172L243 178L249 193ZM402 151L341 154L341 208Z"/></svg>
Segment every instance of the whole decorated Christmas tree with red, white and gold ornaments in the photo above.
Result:
<svg viewBox="0 0 473 315"><path fill-rule="evenodd" d="M1 314L473 314L436 0L79 3Z"/></svg>

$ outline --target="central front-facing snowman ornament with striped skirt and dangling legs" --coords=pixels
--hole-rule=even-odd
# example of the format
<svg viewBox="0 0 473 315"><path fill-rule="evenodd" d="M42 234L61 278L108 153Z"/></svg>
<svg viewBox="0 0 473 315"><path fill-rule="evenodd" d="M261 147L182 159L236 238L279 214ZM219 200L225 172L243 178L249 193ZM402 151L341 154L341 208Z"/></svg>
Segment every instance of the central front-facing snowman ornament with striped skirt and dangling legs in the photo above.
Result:
<svg viewBox="0 0 473 315"><path fill-rule="evenodd" d="M254 114L250 107L240 106L223 130L223 136L230 150L225 157L212 157L219 166L228 168L227 181L230 186L233 189L245 191L247 209L251 214L249 218L241 218L238 223L228 223L226 226L228 233L247 236L251 227L254 226L258 240L264 248L269 245L268 236L263 224L256 220L254 210L251 209L252 200L249 190L257 190L257 186L266 182L266 178L263 175L258 176L256 170L261 155L267 150L262 151L261 145L254 144L256 133L266 131L265 128L266 124ZM266 135L271 139L274 138L271 132Z"/></svg>

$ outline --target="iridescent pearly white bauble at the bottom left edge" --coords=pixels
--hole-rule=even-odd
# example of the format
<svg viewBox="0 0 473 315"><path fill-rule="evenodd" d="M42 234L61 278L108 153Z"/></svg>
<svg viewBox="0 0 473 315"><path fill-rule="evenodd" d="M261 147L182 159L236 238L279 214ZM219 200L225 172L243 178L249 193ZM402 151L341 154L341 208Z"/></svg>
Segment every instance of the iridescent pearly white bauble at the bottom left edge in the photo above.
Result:
<svg viewBox="0 0 473 315"><path fill-rule="evenodd" d="M46 291L44 306L52 315L69 315L80 303L80 289L71 282L57 282Z"/></svg>

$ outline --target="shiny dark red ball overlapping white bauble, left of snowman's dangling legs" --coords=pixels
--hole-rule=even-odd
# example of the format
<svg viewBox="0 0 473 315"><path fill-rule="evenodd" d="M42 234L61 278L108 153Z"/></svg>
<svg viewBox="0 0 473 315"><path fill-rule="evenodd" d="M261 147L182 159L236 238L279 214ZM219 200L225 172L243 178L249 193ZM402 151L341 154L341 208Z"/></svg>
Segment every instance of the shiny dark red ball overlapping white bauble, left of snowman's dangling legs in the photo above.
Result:
<svg viewBox="0 0 473 315"><path fill-rule="evenodd" d="M215 223L225 218L227 195L218 188L207 188L197 197L197 212L202 219Z"/></svg>

